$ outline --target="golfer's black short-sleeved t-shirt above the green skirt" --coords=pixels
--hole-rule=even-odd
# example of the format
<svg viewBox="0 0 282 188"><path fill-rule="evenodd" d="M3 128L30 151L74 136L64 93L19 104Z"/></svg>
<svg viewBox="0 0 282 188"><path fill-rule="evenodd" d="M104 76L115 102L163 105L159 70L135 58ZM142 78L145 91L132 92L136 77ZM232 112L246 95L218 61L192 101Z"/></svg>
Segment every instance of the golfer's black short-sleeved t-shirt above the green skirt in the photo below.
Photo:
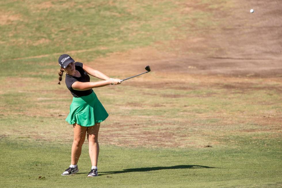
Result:
<svg viewBox="0 0 282 188"><path fill-rule="evenodd" d="M75 76L71 76L66 74L66 87L70 90L70 93L73 94L74 97L82 97L82 96L87 96L90 95L92 93L92 89L90 90L85 90L85 91L78 91L78 90L74 90L71 85L73 83L75 83L76 81L80 81L80 82L89 82L90 81L90 77L88 76L88 74L83 70L83 63L81 62L75 62L75 69L77 71L79 71L79 73L81 74L81 77L75 77Z"/></svg>

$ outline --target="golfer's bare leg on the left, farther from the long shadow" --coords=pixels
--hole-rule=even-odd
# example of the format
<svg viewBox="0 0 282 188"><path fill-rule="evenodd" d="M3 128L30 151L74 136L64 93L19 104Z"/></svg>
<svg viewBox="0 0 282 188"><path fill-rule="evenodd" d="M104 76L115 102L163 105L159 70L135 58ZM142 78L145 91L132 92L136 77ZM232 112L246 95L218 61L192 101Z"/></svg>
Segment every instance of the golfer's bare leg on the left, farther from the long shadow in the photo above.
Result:
<svg viewBox="0 0 282 188"><path fill-rule="evenodd" d="M71 164L76 165L81 154L87 127L73 124L73 146L71 147Z"/></svg>

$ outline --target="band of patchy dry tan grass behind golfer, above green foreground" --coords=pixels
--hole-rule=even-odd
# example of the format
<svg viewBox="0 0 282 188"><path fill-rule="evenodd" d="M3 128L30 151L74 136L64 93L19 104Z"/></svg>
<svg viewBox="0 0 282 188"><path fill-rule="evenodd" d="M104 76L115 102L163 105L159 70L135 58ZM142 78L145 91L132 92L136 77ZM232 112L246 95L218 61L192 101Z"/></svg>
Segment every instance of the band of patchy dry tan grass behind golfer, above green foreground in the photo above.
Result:
<svg viewBox="0 0 282 188"><path fill-rule="evenodd" d="M117 70L122 72L122 70ZM106 71L107 72L107 71ZM105 73L106 73L105 72ZM224 82L223 82L224 80ZM3 132L5 135L20 135L30 139L60 140L68 138L72 134L72 128L64 119L68 114L68 107L71 102L69 91L64 85L54 87L55 83L44 83L35 78L6 78L1 82L0 87L5 87L2 94L16 91L19 93L29 92L24 100L29 107L14 106L1 108L4 117L8 115L24 115L27 117L42 117L41 123L47 123L47 119L58 119L59 124L47 125L47 129L35 126L25 132L16 131L9 128ZM192 85L191 85L192 84ZM260 101L251 98L252 101L243 101L245 96L254 95L255 92L275 92L281 93L282 81L279 78L248 78L248 77L223 77L216 75L188 75L184 73L165 73L155 71L143 77L128 80L119 86L108 86L107 88L95 89L98 97L110 114L110 117L102 123L100 129L100 142L103 144L113 144L129 147L205 147L222 144L220 139L224 135L245 135L245 134L269 134L281 133L282 113L277 109L272 109L275 101ZM37 86L35 88L35 86ZM126 90L138 88L140 93L135 93L139 100L144 98L154 98L165 100L161 103L146 103L134 99L126 99ZM256 87L253 87L256 86ZM150 91L146 91L150 89ZM165 90L177 92L187 92L194 90L215 90L210 94L163 94ZM152 92L154 91L154 92ZM239 92L238 92L239 91ZM37 93L40 92L40 95ZM123 97L116 98L116 95ZM195 98L197 100L213 100L214 97L222 98L221 95L228 96L227 100L238 99L242 105L261 105L268 110L249 111L226 111L218 109L216 112L197 113L193 109L206 108L205 105L187 105L185 100ZM34 98L33 96L36 96ZM69 100L64 100L68 98ZM104 103L104 98L111 98L113 103ZM183 99L177 102L173 100ZM124 101L120 103L119 101ZM54 102L56 101L56 102ZM181 102L182 101L182 102ZM32 105L30 105L32 104ZM218 106L219 108L221 106ZM155 115L152 109L179 109L179 117L169 117L167 115ZM196 108L196 109L197 109ZM20 111L20 109L26 109ZM192 111L191 111L191 110ZM117 113L124 111L130 113L136 110L152 111L150 115L122 115ZM47 118L47 119L46 119ZM210 122L210 119L218 119ZM44 121L44 122L43 122ZM19 122L20 123L20 122ZM48 136L47 136L48 135Z"/></svg>

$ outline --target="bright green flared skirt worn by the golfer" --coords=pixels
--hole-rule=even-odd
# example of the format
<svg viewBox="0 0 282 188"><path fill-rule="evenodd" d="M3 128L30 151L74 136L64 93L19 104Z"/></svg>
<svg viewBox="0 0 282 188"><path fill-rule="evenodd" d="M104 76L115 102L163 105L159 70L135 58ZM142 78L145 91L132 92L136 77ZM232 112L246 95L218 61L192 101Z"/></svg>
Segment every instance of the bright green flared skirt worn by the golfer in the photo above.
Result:
<svg viewBox="0 0 282 188"><path fill-rule="evenodd" d="M69 124L77 123L84 127L100 123L108 117L108 113L97 98L94 91L90 95L73 97L70 113L66 118Z"/></svg>

